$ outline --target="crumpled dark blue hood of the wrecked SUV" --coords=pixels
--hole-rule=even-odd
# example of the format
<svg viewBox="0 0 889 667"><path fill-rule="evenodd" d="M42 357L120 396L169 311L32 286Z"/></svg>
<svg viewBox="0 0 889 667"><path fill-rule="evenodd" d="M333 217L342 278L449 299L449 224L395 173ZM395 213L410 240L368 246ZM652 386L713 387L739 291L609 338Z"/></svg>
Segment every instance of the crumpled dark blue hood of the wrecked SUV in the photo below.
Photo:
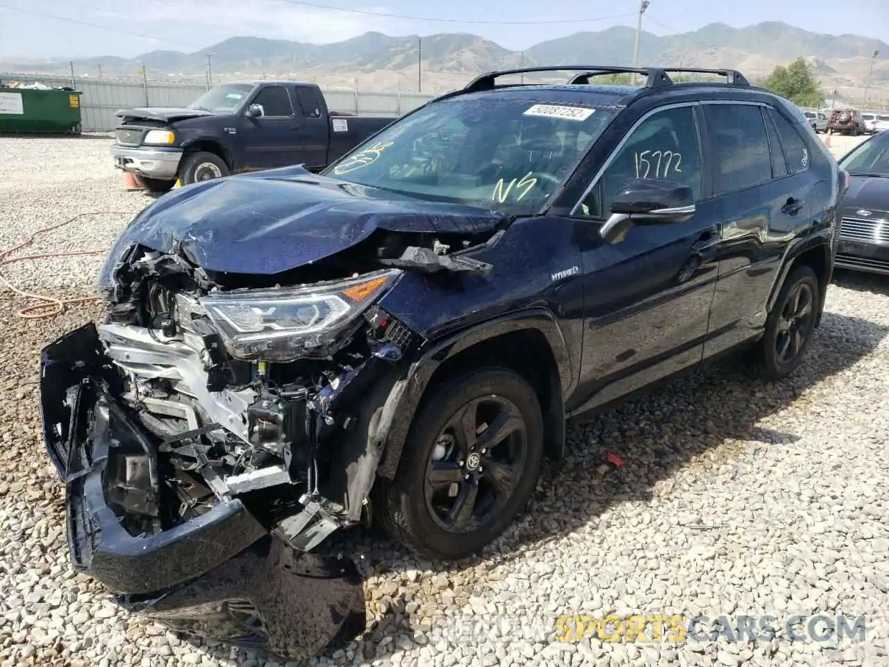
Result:
<svg viewBox="0 0 889 667"><path fill-rule="evenodd" d="M131 245L178 252L209 270L274 275L356 245L377 229L485 234L504 215L422 201L286 167L174 189L142 211L108 253L100 282Z"/></svg>

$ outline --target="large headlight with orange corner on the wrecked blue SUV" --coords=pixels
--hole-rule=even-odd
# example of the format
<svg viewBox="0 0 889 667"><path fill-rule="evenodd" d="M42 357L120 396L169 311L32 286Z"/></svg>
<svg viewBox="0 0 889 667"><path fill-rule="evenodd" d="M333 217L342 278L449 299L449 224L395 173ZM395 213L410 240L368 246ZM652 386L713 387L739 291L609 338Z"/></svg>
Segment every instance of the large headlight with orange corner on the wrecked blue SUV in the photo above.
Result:
<svg viewBox="0 0 889 667"><path fill-rule="evenodd" d="M241 290L200 300L232 357L292 361L326 356L326 348L396 283L388 269L294 289Z"/></svg>

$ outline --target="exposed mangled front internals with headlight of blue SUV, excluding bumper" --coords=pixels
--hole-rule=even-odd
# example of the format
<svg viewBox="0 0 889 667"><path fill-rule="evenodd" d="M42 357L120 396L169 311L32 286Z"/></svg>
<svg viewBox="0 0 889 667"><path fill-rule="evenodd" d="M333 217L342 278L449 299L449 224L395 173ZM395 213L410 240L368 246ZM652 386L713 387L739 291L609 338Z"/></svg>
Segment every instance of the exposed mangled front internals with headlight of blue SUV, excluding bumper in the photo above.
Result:
<svg viewBox="0 0 889 667"><path fill-rule="evenodd" d="M366 305L400 274L222 294L181 257L135 247L97 328L124 378L119 399L157 438L159 494L175 502L146 492L154 485L139 477L151 471L139 465L110 470L127 530L153 534L239 497L274 534L311 550L369 518L369 489L348 487L361 473L332 470L330 456L345 452L322 444L356 426L363 379L379 380L420 343Z"/></svg>

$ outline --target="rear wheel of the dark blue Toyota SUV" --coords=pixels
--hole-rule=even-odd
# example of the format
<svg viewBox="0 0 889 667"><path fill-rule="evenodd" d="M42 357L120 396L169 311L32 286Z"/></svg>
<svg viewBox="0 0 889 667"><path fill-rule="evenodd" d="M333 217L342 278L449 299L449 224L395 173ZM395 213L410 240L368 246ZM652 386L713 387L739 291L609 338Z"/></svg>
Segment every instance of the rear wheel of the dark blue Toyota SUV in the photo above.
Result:
<svg viewBox="0 0 889 667"><path fill-rule="evenodd" d="M809 349L820 300L818 277L812 267L793 269L781 286L765 320L765 335L757 344L754 368L759 377L775 382L796 370Z"/></svg>

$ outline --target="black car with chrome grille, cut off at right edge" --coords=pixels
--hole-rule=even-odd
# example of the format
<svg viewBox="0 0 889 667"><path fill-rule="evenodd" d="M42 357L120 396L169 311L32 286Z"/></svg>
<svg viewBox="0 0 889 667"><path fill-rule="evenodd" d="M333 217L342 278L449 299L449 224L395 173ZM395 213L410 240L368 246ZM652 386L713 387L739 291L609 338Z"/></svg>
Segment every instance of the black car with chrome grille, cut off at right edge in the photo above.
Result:
<svg viewBox="0 0 889 667"><path fill-rule="evenodd" d="M842 200L837 266L889 275L889 133L877 133L840 159L851 176Z"/></svg>

